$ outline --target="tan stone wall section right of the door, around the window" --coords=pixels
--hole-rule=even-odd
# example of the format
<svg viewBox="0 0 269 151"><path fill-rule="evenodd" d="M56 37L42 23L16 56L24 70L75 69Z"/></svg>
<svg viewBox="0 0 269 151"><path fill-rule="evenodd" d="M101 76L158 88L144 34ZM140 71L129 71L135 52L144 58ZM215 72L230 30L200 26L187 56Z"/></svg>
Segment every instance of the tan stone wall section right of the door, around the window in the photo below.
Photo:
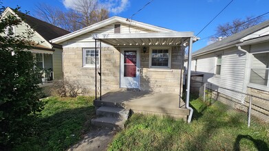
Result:
<svg viewBox="0 0 269 151"><path fill-rule="evenodd" d="M146 53L143 53L142 48L140 49L140 89L142 91L180 92L184 56L182 56L180 47L172 47L171 51L171 69L150 69L149 47L147 47Z"/></svg>

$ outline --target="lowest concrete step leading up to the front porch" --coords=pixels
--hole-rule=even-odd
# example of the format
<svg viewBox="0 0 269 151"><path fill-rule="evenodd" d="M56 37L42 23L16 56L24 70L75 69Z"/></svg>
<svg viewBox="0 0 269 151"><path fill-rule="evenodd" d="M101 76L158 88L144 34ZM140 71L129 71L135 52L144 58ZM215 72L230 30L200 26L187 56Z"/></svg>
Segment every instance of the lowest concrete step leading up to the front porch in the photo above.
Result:
<svg viewBox="0 0 269 151"><path fill-rule="evenodd" d="M95 126L109 127L123 129L125 127L126 119L119 119L116 117L98 117L92 119L92 124Z"/></svg>

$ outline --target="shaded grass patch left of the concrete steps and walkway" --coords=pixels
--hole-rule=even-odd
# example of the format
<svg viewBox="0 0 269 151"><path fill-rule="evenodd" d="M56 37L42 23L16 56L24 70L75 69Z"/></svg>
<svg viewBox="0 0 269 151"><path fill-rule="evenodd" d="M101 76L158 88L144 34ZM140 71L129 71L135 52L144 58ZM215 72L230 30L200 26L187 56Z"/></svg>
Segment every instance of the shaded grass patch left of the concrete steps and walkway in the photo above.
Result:
<svg viewBox="0 0 269 151"><path fill-rule="evenodd" d="M90 130L95 116L93 97L50 97L45 108L33 119L31 135L13 150L66 150Z"/></svg>

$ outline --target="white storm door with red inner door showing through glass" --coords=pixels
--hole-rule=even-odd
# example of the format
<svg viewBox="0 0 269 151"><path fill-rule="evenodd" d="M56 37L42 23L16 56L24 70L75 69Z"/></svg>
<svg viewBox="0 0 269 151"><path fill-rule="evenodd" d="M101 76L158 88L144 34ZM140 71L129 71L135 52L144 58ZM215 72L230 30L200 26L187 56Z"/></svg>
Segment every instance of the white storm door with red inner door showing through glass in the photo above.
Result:
<svg viewBox="0 0 269 151"><path fill-rule="evenodd" d="M139 89L139 49L122 48L120 53L120 87Z"/></svg>

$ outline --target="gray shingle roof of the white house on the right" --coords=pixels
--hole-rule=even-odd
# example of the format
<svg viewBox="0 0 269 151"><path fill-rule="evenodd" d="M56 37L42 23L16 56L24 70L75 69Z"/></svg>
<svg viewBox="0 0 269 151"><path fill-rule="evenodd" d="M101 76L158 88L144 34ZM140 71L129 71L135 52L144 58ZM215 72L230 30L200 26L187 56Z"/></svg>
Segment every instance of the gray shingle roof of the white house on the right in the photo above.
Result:
<svg viewBox="0 0 269 151"><path fill-rule="evenodd" d="M199 54L204 54L204 53L207 53L210 51L214 51L215 49L220 49L222 47L235 45L237 43L240 43L241 38L244 38L245 36L248 36L249 34L257 32L257 31L263 29L264 27L268 27L268 26L269 26L269 21L265 21L263 23L260 23L259 25L255 25L255 26L250 27L246 30L243 30L242 32L239 32L237 34L233 34L232 36L228 36L227 38L224 38L221 41L217 41L211 45L203 47L202 49L199 49L199 50L193 52L192 56L197 56Z"/></svg>

